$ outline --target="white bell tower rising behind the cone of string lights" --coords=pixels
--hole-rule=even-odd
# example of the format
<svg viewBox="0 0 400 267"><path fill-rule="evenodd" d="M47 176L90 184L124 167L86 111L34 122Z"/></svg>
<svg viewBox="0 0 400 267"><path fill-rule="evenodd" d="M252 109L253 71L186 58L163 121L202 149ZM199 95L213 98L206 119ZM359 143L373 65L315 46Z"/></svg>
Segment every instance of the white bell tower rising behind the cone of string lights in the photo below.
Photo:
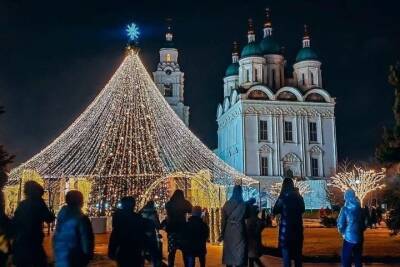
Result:
<svg viewBox="0 0 400 267"><path fill-rule="evenodd" d="M165 35L165 47L160 49L160 62L153 72L154 83L181 120L189 126L189 107L184 104L184 73L178 64L178 49L172 42L171 27Z"/></svg>

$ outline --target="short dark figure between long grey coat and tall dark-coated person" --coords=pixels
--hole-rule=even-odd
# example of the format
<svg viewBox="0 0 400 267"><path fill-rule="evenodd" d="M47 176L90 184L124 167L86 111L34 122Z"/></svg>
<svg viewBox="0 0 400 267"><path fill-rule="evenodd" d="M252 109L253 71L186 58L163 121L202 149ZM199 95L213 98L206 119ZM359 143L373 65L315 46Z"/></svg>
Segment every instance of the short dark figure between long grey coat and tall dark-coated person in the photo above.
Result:
<svg viewBox="0 0 400 267"><path fill-rule="evenodd" d="M254 267L254 263L257 266L264 266L260 260L262 255L262 231L265 228L265 221L258 218L258 207L252 206L249 210L249 218L246 220L247 239L249 242L248 258L249 267Z"/></svg>

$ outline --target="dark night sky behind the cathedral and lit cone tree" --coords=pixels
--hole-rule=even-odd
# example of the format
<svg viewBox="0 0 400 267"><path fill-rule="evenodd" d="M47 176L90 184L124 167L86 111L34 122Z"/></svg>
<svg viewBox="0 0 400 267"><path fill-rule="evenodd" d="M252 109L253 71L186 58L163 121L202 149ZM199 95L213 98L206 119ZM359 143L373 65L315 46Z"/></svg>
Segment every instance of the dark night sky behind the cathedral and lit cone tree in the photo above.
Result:
<svg viewBox="0 0 400 267"><path fill-rule="evenodd" d="M337 98L341 159L373 157L392 123L388 66L400 59L399 1L0 1L0 143L21 162L86 108L124 55L125 25L142 28L141 57L158 60L164 19L174 19L192 131L216 146L215 114L231 43L246 41L247 19L261 37L264 8L291 65L309 24L324 88Z"/></svg>

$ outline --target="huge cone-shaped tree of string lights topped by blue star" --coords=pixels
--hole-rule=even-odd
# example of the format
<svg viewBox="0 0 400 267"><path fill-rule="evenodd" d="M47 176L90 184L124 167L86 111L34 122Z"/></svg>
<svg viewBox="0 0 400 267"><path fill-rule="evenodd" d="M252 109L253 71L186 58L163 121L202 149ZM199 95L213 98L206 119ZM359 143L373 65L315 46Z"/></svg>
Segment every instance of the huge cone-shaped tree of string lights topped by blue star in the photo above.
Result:
<svg viewBox="0 0 400 267"><path fill-rule="evenodd" d="M252 183L179 119L139 58L139 29L130 24L126 30L131 44L106 86L59 137L12 171L10 184L18 184L25 170L49 183L85 178L91 181L90 214L104 215L122 196L140 201L154 184L159 186L147 194L165 202L168 179L177 174L187 178L208 171L213 184Z"/></svg>

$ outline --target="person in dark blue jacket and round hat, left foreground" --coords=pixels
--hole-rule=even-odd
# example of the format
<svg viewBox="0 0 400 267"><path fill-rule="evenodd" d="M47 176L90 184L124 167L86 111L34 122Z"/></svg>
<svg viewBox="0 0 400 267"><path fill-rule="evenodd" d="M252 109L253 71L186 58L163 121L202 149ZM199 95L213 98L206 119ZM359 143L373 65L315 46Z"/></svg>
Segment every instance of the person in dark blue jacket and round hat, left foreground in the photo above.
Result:
<svg viewBox="0 0 400 267"><path fill-rule="evenodd" d="M89 217L82 212L83 195L71 190L65 196L67 205L57 216L53 237L56 267L84 267L93 258L94 235Z"/></svg>

